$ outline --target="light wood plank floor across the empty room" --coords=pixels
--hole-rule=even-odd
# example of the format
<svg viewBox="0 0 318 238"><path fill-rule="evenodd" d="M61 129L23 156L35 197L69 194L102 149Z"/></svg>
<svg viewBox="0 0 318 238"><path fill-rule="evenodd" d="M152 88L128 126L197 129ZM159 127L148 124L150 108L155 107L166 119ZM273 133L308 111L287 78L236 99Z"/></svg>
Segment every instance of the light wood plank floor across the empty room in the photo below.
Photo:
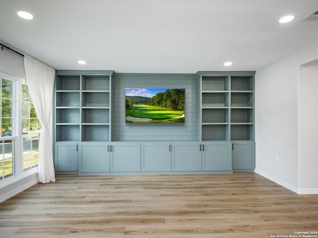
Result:
<svg viewBox="0 0 318 238"><path fill-rule="evenodd" d="M318 195L254 173L57 175L0 204L1 238L269 238L318 231Z"/></svg>

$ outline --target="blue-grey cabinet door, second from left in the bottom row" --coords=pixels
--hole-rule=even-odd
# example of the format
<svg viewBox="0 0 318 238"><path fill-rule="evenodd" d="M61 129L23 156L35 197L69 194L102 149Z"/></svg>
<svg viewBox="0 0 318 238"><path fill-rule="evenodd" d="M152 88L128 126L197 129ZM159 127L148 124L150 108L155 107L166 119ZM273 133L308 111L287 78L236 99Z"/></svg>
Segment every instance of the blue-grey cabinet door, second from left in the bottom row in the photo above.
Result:
<svg viewBox="0 0 318 238"><path fill-rule="evenodd" d="M108 143L82 143L79 149L79 172L109 172Z"/></svg>

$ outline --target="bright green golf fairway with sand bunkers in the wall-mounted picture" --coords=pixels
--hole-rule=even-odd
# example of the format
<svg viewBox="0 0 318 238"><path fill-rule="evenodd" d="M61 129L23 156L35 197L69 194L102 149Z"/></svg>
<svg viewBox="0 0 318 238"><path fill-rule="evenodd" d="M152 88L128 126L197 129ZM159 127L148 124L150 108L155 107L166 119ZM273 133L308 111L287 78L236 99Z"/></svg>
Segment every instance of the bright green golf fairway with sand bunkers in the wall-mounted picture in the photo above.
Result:
<svg viewBox="0 0 318 238"><path fill-rule="evenodd" d="M157 106L137 105L126 110L128 123L184 123L184 111Z"/></svg>

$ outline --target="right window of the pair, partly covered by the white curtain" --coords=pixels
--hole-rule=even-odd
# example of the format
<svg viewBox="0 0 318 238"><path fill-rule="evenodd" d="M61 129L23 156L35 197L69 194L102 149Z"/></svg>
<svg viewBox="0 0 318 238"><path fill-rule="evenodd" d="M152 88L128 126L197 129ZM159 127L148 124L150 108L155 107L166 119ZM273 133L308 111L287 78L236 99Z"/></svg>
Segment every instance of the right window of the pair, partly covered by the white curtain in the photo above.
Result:
<svg viewBox="0 0 318 238"><path fill-rule="evenodd" d="M41 124L31 102L28 86L22 84L23 171L38 166L40 130Z"/></svg>

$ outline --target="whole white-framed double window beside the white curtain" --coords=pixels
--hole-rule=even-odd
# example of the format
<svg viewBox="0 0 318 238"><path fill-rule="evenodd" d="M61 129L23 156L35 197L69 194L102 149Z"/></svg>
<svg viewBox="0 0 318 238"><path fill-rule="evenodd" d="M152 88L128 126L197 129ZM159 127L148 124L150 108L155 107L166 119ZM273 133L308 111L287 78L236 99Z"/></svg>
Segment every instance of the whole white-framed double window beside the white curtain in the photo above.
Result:
<svg viewBox="0 0 318 238"><path fill-rule="evenodd" d="M41 124L28 86L0 73L0 180L38 166Z"/></svg>

